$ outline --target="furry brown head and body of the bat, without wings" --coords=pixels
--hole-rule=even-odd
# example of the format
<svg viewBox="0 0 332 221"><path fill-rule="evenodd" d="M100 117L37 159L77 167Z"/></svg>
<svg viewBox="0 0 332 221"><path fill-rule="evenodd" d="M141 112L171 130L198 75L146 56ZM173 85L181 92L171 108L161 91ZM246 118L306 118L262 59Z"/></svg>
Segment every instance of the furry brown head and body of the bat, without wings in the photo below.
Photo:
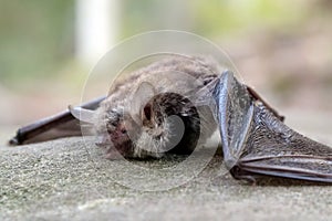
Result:
<svg viewBox="0 0 332 221"><path fill-rule="evenodd" d="M208 85L217 70L205 60L181 56L117 78L93 120L107 157L190 154L216 129L211 113L201 106L211 101Z"/></svg>

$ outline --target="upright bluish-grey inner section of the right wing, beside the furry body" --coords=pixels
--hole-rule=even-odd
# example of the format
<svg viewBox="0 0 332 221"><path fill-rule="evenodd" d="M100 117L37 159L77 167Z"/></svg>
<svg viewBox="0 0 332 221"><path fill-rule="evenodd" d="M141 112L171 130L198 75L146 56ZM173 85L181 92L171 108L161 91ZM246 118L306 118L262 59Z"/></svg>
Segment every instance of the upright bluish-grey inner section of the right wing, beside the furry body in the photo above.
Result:
<svg viewBox="0 0 332 221"><path fill-rule="evenodd" d="M247 86L229 71L224 72L214 92L225 165L231 169L242 151L253 115L252 98Z"/></svg>

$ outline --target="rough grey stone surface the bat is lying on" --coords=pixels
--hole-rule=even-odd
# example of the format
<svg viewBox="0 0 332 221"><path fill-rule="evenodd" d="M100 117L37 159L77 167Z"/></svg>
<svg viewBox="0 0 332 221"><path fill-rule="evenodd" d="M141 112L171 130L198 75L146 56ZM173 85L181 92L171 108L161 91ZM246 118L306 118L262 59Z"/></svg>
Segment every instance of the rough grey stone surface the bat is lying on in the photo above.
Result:
<svg viewBox="0 0 332 221"><path fill-rule="evenodd" d="M303 122L311 120L301 115L292 116L293 122L289 123L300 123L304 134L331 146L331 124L320 116L312 119L315 124L308 126ZM320 123L326 127L323 129ZM152 173L166 178L169 175L158 175L158 169L170 168L181 160L169 156L131 164L153 168ZM165 185L163 179L144 180L146 175L133 175L129 168L116 170L121 168L120 161L104 159L103 149L85 146L81 138L3 146L0 148L0 220L331 219L332 186L286 179L267 179L250 186L232 179L221 160L216 156L204 171L178 187L148 191L156 185ZM195 165L187 164L187 170L191 166ZM175 179L186 176L181 170L176 172ZM146 185L148 188L133 189L124 181L132 187Z"/></svg>

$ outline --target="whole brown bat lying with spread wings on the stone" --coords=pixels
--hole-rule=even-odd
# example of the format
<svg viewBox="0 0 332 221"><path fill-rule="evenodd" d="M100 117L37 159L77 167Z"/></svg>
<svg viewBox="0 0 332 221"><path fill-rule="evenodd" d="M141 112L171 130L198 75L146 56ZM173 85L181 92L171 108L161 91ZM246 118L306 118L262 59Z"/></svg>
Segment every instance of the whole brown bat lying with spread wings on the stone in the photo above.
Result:
<svg viewBox="0 0 332 221"><path fill-rule="evenodd" d="M81 135L79 122L93 125L107 158L188 155L218 129L225 165L236 179L332 182L332 148L287 127L252 88L208 57L153 63L117 81L107 97L23 127L10 143Z"/></svg>

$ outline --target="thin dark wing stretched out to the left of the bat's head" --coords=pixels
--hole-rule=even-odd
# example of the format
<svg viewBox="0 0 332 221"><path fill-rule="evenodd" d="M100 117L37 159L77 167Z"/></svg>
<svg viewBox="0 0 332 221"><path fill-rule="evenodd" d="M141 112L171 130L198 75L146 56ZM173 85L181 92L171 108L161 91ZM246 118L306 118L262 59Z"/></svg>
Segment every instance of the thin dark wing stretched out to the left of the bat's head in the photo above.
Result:
<svg viewBox="0 0 332 221"><path fill-rule="evenodd" d="M81 107L96 109L103 99L105 99L104 96L98 97L81 105ZM19 128L9 144L24 145L70 136L82 136L82 131L80 120L68 109Z"/></svg>

